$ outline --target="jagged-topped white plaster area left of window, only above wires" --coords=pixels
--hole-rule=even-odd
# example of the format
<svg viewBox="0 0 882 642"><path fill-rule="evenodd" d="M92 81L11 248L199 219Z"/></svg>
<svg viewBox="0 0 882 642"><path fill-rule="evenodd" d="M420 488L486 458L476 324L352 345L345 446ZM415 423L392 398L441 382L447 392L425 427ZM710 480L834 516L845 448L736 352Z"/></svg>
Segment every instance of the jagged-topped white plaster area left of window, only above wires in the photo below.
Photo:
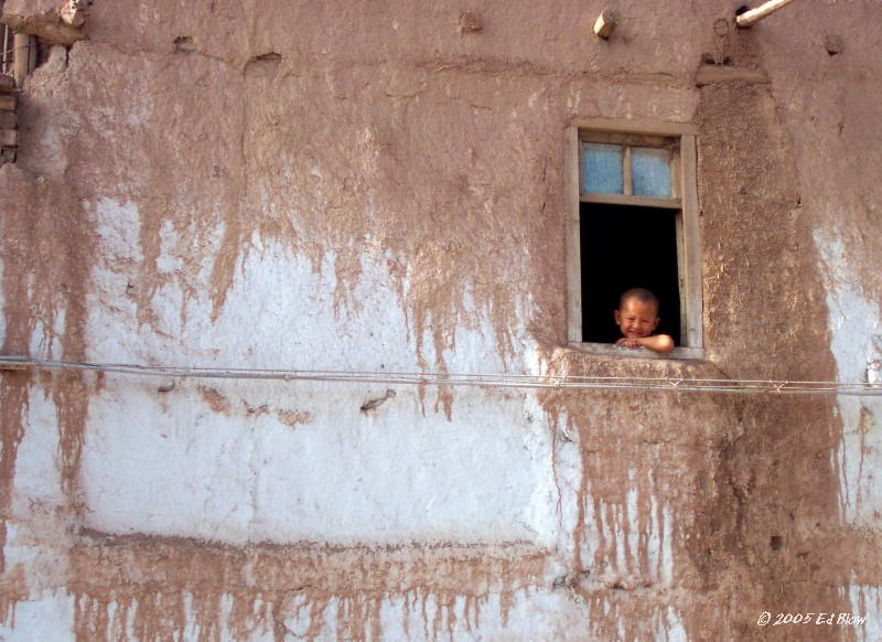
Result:
<svg viewBox="0 0 882 642"><path fill-rule="evenodd" d="M153 329L140 325L136 302L126 297L127 288L139 287L133 278L142 263L139 225L131 205L101 201L96 207L103 248L93 272L88 332L93 359L224 367L418 370L413 311L402 308L396 289L400 287L407 299L409 283L405 277L394 286L390 277L391 268L405 261L388 250L368 248L362 255L357 281L338 283L333 252L324 255L316 274L306 257L255 236L235 270L223 310L214 319L208 292L217 248L180 247L174 229L166 225L161 229L157 263L160 271L172 278L153 292L148 317L159 319L161 325ZM192 263L194 252L204 257L202 265L198 274L183 283L180 268ZM509 333L516 342L513 347L524 350L529 306L520 301L516 306ZM465 311L469 319L462 319L443 354L451 361L448 370L504 372L505 363L498 356L503 339L495 335L490 311L475 310L469 300ZM175 322L174 315L181 321ZM426 334L420 338L430 364L437 356L431 322L427 320ZM519 363L513 364L518 372L524 372L525 356L521 352Z"/></svg>

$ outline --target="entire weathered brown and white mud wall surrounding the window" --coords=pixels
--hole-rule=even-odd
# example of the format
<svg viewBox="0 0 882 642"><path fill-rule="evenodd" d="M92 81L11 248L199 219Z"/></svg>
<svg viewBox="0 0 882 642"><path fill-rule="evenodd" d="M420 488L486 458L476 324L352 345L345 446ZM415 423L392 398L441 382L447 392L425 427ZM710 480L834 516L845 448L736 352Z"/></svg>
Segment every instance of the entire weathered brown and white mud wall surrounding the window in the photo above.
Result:
<svg viewBox="0 0 882 642"><path fill-rule="evenodd" d="M882 3L603 7L96 0L19 95L2 354L864 381ZM704 360L566 346L577 118L699 126ZM170 383L3 372L0 638L882 634L880 397Z"/></svg>

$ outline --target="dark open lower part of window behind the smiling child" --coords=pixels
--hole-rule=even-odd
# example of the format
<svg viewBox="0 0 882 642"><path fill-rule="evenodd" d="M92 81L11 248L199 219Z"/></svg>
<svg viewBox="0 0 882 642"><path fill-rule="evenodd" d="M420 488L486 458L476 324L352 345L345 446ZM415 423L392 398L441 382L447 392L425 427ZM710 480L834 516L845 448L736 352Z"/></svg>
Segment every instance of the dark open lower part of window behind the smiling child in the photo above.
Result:
<svg viewBox="0 0 882 642"><path fill-rule="evenodd" d="M614 343L619 297L647 288L660 301L657 333L680 336L677 210L581 203L582 341Z"/></svg>

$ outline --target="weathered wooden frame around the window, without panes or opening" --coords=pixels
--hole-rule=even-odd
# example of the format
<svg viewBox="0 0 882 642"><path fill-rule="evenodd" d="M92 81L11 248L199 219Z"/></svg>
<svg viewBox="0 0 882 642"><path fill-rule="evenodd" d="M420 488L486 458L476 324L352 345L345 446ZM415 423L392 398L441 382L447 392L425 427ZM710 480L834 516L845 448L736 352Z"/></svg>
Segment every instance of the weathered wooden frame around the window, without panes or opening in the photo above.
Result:
<svg viewBox="0 0 882 642"><path fill-rule="evenodd" d="M696 136L698 127L682 122L632 119L576 120L564 132L564 207L567 242L567 340L571 347L601 354L625 355L616 346L582 341L582 271L580 203L609 203L676 208L677 261L680 286L680 338L682 345L663 359L703 359L703 303L701 281L701 231L698 207ZM624 142L671 141L678 152L671 158L673 197L657 199L621 194L582 193L580 145L583 140ZM658 145L656 142L656 145ZM639 356L646 356L641 351Z"/></svg>

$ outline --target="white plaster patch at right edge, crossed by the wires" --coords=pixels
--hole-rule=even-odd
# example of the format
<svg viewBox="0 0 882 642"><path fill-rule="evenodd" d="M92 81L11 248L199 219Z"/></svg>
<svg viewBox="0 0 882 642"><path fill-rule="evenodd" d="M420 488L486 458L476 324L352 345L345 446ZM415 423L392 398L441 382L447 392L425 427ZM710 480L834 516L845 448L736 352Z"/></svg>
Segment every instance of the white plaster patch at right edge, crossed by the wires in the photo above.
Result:
<svg viewBox="0 0 882 642"><path fill-rule="evenodd" d="M831 332L830 350L840 382L864 382L869 365L882 352L882 314L879 302L853 282L848 248L835 233L815 233L827 288ZM840 504L852 524L882 525L882 398L837 398L842 420L842 443L836 454L840 475Z"/></svg>

